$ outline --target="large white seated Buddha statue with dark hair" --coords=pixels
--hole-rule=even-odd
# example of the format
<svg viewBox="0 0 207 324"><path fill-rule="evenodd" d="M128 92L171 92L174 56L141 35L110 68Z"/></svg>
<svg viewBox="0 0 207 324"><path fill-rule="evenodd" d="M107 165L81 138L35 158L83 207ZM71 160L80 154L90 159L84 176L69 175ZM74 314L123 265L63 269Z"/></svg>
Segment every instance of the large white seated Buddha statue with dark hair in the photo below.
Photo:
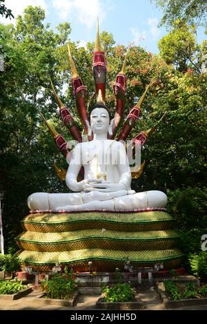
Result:
<svg viewBox="0 0 207 324"><path fill-rule="evenodd" d="M33 193L28 197L31 210L50 211L134 211L164 208L161 191L135 193L130 188L131 173L124 144L108 140L112 126L106 106L97 104L90 112L93 140L75 146L66 173L66 184L74 193ZM77 181L81 166L84 180Z"/></svg>

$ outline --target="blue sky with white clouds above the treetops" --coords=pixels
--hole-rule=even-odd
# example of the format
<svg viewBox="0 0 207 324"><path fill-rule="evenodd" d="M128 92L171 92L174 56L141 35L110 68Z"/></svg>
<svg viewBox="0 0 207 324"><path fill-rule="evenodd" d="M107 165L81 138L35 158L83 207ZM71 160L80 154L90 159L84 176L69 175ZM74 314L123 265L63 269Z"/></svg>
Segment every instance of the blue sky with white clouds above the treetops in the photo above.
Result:
<svg viewBox="0 0 207 324"><path fill-rule="evenodd" d="M157 41L167 33L157 28L162 13L150 0L6 0L5 4L15 16L28 5L41 6L52 29L69 21L70 38L83 46L95 39L97 15L100 32L111 32L117 44L133 43L152 53L158 53ZM0 17L0 22L10 21ZM199 28L197 37L199 43L205 39L204 28Z"/></svg>

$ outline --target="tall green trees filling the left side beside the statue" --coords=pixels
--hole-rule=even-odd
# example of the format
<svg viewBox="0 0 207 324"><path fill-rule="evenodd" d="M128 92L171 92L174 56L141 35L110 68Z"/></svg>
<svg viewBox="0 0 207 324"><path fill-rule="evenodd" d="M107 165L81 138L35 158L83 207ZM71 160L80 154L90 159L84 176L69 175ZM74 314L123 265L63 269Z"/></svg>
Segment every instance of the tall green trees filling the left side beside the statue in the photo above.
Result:
<svg viewBox="0 0 207 324"><path fill-rule="evenodd" d="M59 86L57 57L63 39L70 34L70 24L55 34L44 26L43 19L40 7L29 6L22 17L17 17L16 26L0 24L5 61L0 74L0 187L4 193L6 243L21 231L20 220L28 213L26 199L30 193L64 190L52 167L54 160L61 157L39 111L46 118L57 119L50 77Z"/></svg>

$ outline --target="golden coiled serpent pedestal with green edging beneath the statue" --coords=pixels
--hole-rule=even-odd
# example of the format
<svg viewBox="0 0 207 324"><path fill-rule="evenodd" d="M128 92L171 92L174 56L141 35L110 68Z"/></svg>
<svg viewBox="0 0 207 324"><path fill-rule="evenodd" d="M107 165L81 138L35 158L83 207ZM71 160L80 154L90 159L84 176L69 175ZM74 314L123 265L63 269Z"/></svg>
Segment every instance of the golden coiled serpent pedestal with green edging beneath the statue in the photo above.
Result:
<svg viewBox="0 0 207 324"><path fill-rule="evenodd" d="M173 219L164 210L84 211L31 213L21 222L17 236L19 258L33 271L50 271L56 263L79 272L91 269L124 271L126 260L133 269L176 269L184 254Z"/></svg>

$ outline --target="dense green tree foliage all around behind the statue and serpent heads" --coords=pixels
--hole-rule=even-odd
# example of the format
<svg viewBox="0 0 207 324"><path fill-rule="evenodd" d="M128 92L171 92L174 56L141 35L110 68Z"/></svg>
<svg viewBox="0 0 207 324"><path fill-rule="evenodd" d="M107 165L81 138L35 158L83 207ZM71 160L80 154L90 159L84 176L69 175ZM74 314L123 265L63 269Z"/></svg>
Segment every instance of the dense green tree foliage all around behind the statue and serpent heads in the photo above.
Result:
<svg viewBox="0 0 207 324"><path fill-rule="evenodd" d="M0 48L5 61L4 71L0 72L0 189L4 193L3 229L7 245L21 232L20 220L28 213L26 199L30 193L68 191L52 167L54 161L65 169L68 164L55 147L39 114L41 111L55 129L70 140L59 118L50 78L81 131L66 46L70 41L70 23L61 23L54 32L44 24L44 17L43 9L29 6L17 17L15 26L0 24ZM194 199L189 206L198 208L196 224L193 223L194 209L190 213L192 226L199 227L201 220L202 226L206 226L203 205L203 193L206 192L206 42L197 44L192 26L178 23L174 28L159 42L160 55L131 46L126 67L125 114L128 115L137 103L150 80L161 78L162 83L148 93L130 138L155 125L165 111L166 120L144 145L141 160L146 160L146 166L141 178L132 182L132 187L136 191L168 190L169 208L177 219L177 227L189 229L189 209L181 202L176 204L181 198L184 204ZM106 103L114 113L112 84L121 70L126 48L115 46L112 34L106 31L101 33L101 42L108 62ZM78 73L87 86L86 104L92 104L95 101L91 72L94 43L83 48L79 41L70 42L70 48Z"/></svg>

